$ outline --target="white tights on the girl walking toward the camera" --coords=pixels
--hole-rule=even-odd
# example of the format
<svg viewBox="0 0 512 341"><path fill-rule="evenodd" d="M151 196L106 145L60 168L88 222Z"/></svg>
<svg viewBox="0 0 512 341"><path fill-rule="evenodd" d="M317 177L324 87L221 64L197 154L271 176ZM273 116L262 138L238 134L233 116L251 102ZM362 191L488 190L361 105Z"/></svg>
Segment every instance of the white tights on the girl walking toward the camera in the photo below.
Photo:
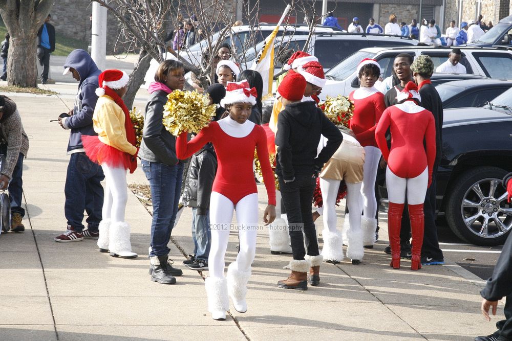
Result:
<svg viewBox="0 0 512 341"><path fill-rule="evenodd" d="M208 256L210 277L222 278L224 276L224 257L233 219L233 209L237 214L240 237L240 252L237 256L238 270L249 271L254 260L258 232L258 193L243 197L235 207L233 202L224 195L211 192L211 246Z"/></svg>

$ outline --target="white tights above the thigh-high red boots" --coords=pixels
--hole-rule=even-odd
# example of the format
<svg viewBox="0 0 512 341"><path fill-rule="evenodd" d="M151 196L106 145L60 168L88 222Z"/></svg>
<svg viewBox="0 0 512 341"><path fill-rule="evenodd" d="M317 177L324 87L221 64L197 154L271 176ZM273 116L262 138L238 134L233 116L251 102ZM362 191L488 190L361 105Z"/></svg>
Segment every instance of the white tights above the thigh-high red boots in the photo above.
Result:
<svg viewBox="0 0 512 341"><path fill-rule="evenodd" d="M425 201L426 187L429 184L428 168L423 173L413 178L396 176L389 167L386 169L386 187L388 199L394 203L407 203L417 205Z"/></svg>

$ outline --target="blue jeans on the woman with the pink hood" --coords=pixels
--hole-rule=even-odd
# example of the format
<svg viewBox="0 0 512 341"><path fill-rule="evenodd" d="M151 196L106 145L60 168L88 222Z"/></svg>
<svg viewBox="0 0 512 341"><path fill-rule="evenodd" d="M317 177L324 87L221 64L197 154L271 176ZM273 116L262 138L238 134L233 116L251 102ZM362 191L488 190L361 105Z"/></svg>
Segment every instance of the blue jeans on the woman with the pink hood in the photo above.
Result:
<svg viewBox="0 0 512 341"><path fill-rule="evenodd" d="M167 244L173 231L181 194L183 165L168 166L142 160L142 170L150 181L153 220L151 222L150 256L168 255Z"/></svg>

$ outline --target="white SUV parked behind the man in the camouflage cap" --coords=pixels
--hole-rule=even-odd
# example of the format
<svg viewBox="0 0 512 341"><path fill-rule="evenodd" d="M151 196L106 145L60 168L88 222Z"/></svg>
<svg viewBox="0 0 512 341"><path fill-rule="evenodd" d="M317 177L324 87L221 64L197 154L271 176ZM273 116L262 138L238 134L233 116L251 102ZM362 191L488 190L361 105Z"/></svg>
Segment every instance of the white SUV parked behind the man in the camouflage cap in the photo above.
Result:
<svg viewBox="0 0 512 341"><path fill-rule="evenodd" d="M473 48L460 47L462 51L461 64L466 67L468 74L486 76L494 79L512 79L512 48ZM347 96L359 87L356 68L357 64L365 58L377 60L382 70L382 77L391 76L395 57L400 53L409 53L413 57L429 55L435 67L448 59L450 49L446 47L398 47L398 48L368 48L359 50L343 61L333 66L326 73L326 85L321 99L327 95Z"/></svg>

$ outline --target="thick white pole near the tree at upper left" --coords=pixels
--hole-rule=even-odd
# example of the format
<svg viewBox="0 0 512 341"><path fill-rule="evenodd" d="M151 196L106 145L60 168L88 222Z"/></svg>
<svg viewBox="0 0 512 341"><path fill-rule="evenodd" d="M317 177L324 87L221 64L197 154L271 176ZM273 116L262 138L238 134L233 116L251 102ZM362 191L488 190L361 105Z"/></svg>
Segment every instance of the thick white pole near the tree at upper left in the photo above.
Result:
<svg viewBox="0 0 512 341"><path fill-rule="evenodd" d="M93 3L93 22L91 30L91 57L99 70L105 70L106 57L106 8Z"/></svg>

